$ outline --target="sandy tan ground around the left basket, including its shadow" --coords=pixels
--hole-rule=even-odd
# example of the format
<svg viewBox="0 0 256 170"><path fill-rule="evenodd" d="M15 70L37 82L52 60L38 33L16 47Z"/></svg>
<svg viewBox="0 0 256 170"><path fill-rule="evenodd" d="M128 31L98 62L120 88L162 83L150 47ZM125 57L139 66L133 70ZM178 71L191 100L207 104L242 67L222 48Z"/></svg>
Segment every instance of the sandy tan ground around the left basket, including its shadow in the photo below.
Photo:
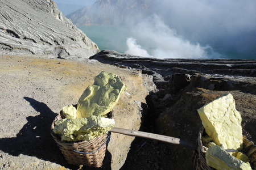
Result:
<svg viewBox="0 0 256 170"><path fill-rule="evenodd" d="M101 71L117 74L128 86L114 108L115 126L139 129L148 95L139 71L95 60L0 57L0 169L78 169L64 160L50 127L62 107L77 104ZM122 167L133 139L112 134L103 168L109 169L110 162L113 169Z"/></svg>

